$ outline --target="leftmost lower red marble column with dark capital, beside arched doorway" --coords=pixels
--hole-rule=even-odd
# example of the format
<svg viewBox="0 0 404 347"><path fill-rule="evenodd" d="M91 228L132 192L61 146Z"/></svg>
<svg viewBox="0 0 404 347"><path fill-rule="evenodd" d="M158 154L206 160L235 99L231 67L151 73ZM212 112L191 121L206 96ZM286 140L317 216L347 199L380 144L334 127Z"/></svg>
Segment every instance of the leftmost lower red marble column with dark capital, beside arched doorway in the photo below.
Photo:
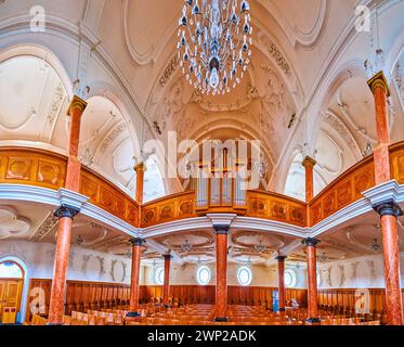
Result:
<svg viewBox="0 0 404 347"><path fill-rule="evenodd" d="M53 267L53 280L51 298L49 305L49 325L62 325L65 312L66 274L68 266L68 254L70 248L73 218L79 213L78 209L62 205L54 213L58 218L55 261Z"/></svg>

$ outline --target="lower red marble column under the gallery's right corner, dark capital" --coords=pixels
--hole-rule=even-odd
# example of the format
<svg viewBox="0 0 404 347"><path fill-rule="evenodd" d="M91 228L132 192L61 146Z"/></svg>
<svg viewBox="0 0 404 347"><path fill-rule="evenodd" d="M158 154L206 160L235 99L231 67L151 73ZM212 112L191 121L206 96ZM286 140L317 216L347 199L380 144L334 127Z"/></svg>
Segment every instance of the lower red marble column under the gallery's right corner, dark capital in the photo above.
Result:
<svg viewBox="0 0 404 347"><path fill-rule="evenodd" d="M308 250L308 322L318 323L316 246L320 240L308 237L302 243Z"/></svg>

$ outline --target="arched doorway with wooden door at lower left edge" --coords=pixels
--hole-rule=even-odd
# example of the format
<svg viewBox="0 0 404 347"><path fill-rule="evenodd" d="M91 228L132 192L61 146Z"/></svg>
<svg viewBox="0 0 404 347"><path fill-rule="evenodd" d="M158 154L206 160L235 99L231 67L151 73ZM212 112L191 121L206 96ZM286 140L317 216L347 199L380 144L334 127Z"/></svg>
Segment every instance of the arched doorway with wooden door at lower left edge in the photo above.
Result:
<svg viewBox="0 0 404 347"><path fill-rule="evenodd" d="M0 322L19 321L26 270L13 259L0 260Z"/></svg>

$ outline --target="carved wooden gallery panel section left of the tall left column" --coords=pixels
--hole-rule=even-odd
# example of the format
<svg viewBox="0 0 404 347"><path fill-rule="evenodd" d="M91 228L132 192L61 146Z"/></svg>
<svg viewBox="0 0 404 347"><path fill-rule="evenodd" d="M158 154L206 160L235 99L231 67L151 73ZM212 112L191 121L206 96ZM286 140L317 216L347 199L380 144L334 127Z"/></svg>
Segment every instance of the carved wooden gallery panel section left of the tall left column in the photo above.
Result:
<svg viewBox="0 0 404 347"><path fill-rule="evenodd" d="M0 149L0 183L57 190L64 185L67 159L58 154L25 147Z"/></svg>

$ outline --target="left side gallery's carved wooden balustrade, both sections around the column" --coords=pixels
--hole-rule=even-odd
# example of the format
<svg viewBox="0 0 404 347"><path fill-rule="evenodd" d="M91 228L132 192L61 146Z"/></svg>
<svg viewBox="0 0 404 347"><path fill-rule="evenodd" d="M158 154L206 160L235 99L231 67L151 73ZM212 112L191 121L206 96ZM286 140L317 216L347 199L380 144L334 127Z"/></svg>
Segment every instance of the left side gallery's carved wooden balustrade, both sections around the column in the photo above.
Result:
<svg viewBox="0 0 404 347"><path fill-rule="evenodd" d="M67 157L42 150L0 147L0 183L28 184L51 190L64 187ZM139 227L140 207L113 183L82 167L80 193L104 210Z"/></svg>

